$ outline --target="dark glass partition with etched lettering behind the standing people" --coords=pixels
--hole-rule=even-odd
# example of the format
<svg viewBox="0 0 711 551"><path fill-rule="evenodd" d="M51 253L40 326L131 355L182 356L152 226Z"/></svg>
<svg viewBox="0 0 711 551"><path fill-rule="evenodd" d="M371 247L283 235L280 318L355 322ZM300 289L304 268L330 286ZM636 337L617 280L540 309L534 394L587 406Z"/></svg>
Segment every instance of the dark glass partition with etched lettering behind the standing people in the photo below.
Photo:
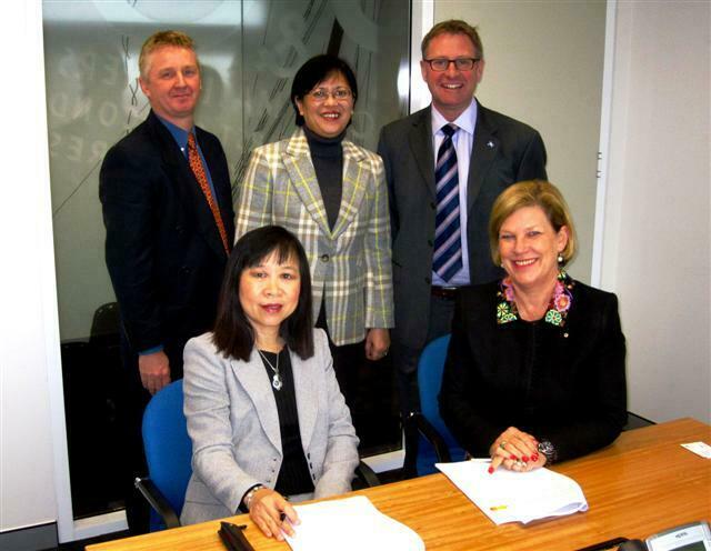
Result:
<svg viewBox="0 0 711 551"><path fill-rule="evenodd" d="M405 0L46 0L44 63L60 334L74 517L121 507L114 402L117 310L104 264L98 178L107 149L140 123L142 42L179 29L198 44L197 123L216 133L234 184L252 148L289 136L291 79L311 56L347 59L361 91L350 139L375 149L380 127L407 114L410 2ZM400 447L392 370L364 373L362 451Z"/></svg>

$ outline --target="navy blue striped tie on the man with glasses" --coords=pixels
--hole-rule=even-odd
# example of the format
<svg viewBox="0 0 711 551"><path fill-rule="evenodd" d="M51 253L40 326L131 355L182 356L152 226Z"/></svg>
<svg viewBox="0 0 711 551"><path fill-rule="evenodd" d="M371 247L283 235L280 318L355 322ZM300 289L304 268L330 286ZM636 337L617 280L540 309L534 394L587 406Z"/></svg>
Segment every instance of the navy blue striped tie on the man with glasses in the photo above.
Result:
<svg viewBox="0 0 711 551"><path fill-rule="evenodd" d="M459 222L459 173L457 151L452 136L454 124L442 127L444 140L437 153L434 182L437 187L437 217L434 219L434 257L432 269L449 281L462 269L461 227Z"/></svg>

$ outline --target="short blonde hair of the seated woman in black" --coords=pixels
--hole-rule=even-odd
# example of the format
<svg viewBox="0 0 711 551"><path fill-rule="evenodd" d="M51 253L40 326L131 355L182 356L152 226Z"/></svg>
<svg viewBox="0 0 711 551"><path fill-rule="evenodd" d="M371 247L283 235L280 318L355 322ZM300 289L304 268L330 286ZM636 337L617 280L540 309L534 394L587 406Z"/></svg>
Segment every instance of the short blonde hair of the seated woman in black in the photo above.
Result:
<svg viewBox="0 0 711 551"><path fill-rule="evenodd" d="M559 189L543 180L530 180L509 186L494 201L489 219L489 247L491 259L495 266L501 264L499 253L499 232L507 218L524 207L540 207L545 218L555 230L555 233L564 226L568 228L568 242L561 251L562 264L567 264L578 252L575 227L570 214L570 209Z"/></svg>

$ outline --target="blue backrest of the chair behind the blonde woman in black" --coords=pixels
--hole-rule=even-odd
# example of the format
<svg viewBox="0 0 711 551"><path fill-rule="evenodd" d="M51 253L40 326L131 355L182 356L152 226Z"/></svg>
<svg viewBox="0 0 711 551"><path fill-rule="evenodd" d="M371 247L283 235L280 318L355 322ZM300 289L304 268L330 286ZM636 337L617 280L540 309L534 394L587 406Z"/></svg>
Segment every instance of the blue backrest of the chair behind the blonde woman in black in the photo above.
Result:
<svg viewBox="0 0 711 551"><path fill-rule="evenodd" d="M434 339L424 347L420 355L420 362L418 363L420 411L447 442L452 461L462 461L464 459L464 450L457 443L444 421L442 421L438 401L440 389L442 388L442 373L444 372L449 339L449 334ZM421 438L418 447L418 474L423 475L437 472L434 462L434 449L427 440Z"/></svg>

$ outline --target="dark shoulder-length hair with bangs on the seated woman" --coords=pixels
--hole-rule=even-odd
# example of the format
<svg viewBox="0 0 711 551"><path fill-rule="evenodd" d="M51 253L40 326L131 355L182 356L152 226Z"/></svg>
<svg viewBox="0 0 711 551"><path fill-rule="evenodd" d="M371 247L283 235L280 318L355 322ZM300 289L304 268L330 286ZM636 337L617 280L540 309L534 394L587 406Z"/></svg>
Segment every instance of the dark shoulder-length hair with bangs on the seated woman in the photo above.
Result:
<svg viewBox="0 0 711 551"><path fill-rule="evenodd" d="M212 335L212 342L226 358L249 360L254 334L240 303L240 278L244 270L259 266L273 253L280 263L296 258L301 281L297 309L281 323L279 334L302 360L313 355L311 274L307 253L289 230L280 226L264 226L244 233L234 243L227 264Z"/></svg>

